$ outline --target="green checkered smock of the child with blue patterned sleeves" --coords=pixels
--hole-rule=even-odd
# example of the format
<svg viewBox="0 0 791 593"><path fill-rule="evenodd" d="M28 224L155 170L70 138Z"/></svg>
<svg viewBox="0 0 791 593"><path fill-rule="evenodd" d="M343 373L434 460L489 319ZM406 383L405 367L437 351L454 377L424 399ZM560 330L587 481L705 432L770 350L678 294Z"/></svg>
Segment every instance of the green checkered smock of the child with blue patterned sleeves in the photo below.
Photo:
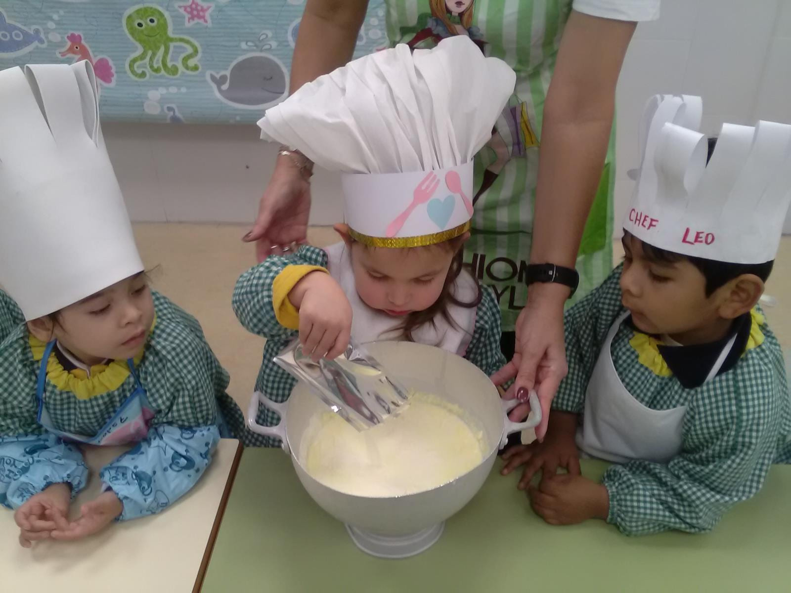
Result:
<svg viewBox="0 0 791 593"><path fill-rule="evenodd" d="M205 426L223 417L230 432L246 440L241 410L225 393L228 373L206 343L200 324L165 296L152 294L157 320L137 368L155 414L151 425ZM36 422L40 361L33 356L21 312L2 291L0 331L0 436L44 434ZM117 388L80 399L47 380L44 398L59 430L93 435L134 389L130 375Z"/></svg>

